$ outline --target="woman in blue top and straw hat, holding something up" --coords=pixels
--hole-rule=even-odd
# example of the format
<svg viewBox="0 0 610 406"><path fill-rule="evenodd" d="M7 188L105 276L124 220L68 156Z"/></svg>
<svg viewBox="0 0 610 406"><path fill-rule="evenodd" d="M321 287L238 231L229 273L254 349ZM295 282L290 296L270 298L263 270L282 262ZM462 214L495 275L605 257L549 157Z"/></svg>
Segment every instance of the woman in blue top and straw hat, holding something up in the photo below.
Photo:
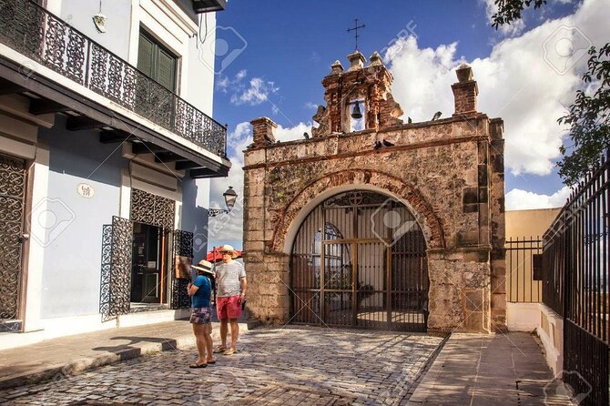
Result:
<svg viewBox="0 0 610 406"><path fill-rule="evenodd" d="M209 277L214 274L212 264L207 260L202 259L198 265L192 265L192 267L197 269L198 276L193 283L188 283L188 296L193 301L190 322L193 324L193 332L197 340L198 359L189 367L205 368L208 364L216 362L212 357L212 309L209 307L209 299L212 294Z"/></svg>

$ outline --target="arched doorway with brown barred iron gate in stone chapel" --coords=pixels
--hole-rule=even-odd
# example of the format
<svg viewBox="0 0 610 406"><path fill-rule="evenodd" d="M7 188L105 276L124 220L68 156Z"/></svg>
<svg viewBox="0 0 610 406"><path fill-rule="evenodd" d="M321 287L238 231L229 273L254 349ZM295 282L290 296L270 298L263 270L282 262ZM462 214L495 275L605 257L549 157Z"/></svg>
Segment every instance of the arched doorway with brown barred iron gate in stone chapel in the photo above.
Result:
<svg viewBox="0 0 610 406"><path fill-rule="evenodd" d="M379 193L328 198L292 244L293 323L425 331L428 287L422 229L401 202Z"/></svg>

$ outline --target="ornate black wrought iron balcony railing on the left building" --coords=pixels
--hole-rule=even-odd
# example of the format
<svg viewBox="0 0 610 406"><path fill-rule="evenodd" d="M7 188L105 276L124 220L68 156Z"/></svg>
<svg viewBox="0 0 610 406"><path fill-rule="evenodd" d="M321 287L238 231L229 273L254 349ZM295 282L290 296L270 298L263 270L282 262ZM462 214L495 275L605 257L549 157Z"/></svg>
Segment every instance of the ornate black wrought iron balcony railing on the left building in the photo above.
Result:
<svg viewBox="0 0 610 406"><path fill-rule="evenodd" d="M0 0L0 41L199 147L227 157L226 127L33 1Z"/></svg>

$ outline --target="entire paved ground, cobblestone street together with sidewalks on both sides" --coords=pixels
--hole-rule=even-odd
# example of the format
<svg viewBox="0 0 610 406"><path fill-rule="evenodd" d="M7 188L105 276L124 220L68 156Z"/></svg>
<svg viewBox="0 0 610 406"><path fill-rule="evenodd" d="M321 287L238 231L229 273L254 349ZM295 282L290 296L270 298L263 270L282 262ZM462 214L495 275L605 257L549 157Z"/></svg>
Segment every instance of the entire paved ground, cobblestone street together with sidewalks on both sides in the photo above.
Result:
<svg viewBox="0 0 610 406"><path fill-rule="evenodd" d="M0 351L0 381L21 380L0 390L0 403L569 404L557 395L542 350L528 333L444 339L300 326L242 328L238 354L219 355L215 364L193 370L190 329L188 321L177 320ZM43 375L46 381L40 381Z"/></svg>

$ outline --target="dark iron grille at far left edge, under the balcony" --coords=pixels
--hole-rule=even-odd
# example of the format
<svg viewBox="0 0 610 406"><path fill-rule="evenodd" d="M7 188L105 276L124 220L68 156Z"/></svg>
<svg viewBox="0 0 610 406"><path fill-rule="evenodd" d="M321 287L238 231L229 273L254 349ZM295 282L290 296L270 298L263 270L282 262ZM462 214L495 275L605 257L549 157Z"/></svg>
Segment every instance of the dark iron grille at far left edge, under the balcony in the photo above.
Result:
<svg viewBox="0 0 610 406"><path fill-rule="evenodd" d="M0 154L0 319L17 318L21 282L25 162Z"/></svg>

